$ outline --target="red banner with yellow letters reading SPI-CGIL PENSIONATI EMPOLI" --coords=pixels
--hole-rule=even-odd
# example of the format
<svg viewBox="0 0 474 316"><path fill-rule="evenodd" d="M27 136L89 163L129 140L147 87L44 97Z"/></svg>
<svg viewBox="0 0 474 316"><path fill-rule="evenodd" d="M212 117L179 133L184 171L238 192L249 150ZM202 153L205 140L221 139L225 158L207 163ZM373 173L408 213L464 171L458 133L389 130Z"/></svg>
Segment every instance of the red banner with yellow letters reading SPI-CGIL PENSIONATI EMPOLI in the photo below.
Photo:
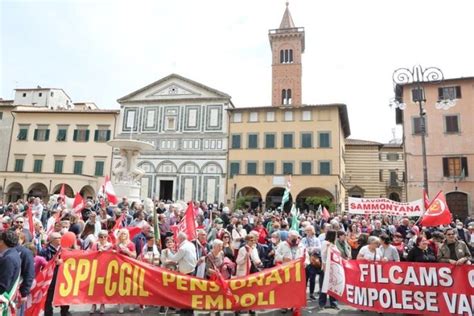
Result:
<svg viewBox="0 0 474 316"><path fill-rule="evenodd" d="M258 310L306 305L302 260L225 281L154 267L112 251L62 254L54 305L141 304L194 310ZM100 262L100 264L99 264ZM235 302L229 299L229 291Z"/></svg>

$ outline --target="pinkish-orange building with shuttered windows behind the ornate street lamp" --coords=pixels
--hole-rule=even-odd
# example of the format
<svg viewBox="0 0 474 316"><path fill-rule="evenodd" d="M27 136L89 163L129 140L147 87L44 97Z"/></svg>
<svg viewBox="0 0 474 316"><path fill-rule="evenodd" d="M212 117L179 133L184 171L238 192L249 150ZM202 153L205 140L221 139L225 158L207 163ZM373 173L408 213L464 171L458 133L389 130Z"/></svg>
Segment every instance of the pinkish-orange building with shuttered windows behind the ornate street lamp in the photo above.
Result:
<svg viewBox="0 0 474 316"><path fill-rule="evenodd" d="M426 118L426 160L430 198L442 190L454 216L474 214L474 77L446 79L423 85ZM397 123L403 126L406 156L407 198L423 196L423 154L421 120L413 85L399 86L397 97L406 104L397 109ZM439 100L454 100L448 109L437 109Z"/></svg>

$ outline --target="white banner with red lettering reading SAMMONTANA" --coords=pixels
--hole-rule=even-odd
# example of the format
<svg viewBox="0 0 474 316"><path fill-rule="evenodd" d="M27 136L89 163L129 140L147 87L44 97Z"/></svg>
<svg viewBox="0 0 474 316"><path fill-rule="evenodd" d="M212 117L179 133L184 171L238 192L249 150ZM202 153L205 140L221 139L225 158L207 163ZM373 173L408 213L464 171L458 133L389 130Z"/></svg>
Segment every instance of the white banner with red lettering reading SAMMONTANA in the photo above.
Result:
<svg viewBox="0 0 474 316"><path fill-rule="evenodd" d="M349 197L349 213L360 215L421 216L423 200L401 203L385 198L364 199Z"/></svg>

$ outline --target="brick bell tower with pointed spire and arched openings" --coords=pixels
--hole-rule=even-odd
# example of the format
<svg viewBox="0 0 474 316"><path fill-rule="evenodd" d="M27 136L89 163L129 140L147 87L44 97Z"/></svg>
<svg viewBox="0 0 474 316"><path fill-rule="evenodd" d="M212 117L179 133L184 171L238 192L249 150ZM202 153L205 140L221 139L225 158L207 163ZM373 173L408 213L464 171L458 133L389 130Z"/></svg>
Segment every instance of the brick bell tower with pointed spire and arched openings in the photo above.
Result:
<svg viewBox="0 0 474 316"><path fill-rule="evenodd" d="M270 30L272 48L272 105L300 106L301 54L304 53L304 28L295 23L286 2L285 13L278 29Z"/></svg>

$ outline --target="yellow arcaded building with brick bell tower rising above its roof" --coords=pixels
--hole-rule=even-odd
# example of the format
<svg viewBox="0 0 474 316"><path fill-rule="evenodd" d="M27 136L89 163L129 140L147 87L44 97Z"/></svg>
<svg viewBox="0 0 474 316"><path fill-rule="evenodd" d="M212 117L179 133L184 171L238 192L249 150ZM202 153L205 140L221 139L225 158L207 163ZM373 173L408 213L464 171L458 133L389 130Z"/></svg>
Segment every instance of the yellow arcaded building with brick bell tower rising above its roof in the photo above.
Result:
<svg viewBox="0 0 474 316"><path fill-rule="evenodd" d="M311 196L330 197L343 207L342 157L344 139L350 135L347 108L302 102L304 34L287 7L280 28L269 32L272 106L228 109L228 203L245 196L253 207L274 209L292 175L291 200L300 208Z"/></svg>

